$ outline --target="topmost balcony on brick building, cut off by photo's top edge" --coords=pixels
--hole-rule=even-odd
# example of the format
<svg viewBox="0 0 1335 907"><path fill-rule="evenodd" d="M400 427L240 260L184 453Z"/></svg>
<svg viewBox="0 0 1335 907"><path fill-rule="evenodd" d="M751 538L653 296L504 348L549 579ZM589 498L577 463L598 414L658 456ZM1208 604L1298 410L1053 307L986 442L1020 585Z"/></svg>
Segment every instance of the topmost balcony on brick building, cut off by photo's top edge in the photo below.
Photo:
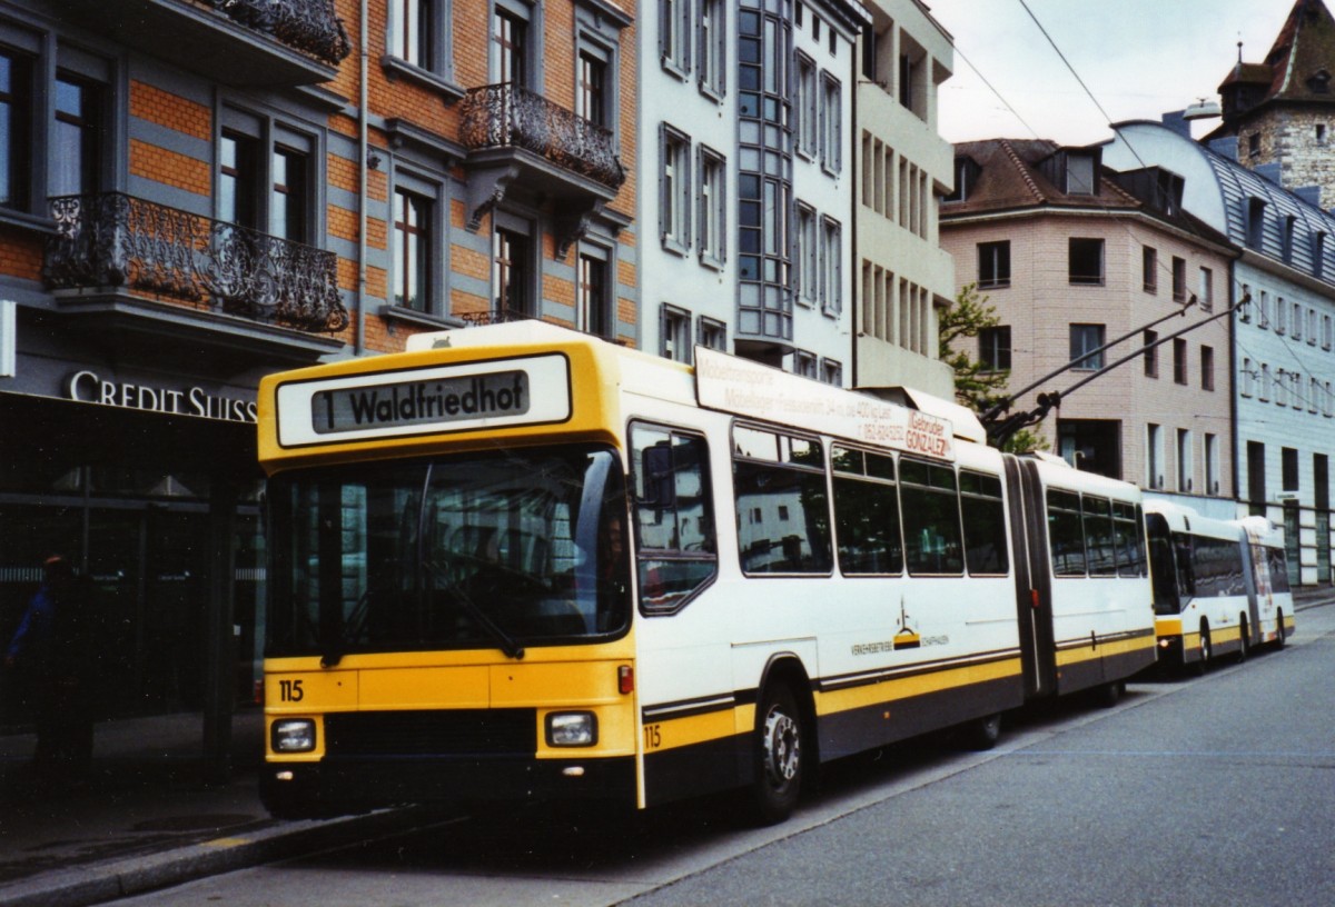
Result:
<svg viewBox="0 0 1335 907"><path fill-rule="evenodd" d="M314 85L351 51L334 0L65 0L65 19L235 87Z"/></svg>

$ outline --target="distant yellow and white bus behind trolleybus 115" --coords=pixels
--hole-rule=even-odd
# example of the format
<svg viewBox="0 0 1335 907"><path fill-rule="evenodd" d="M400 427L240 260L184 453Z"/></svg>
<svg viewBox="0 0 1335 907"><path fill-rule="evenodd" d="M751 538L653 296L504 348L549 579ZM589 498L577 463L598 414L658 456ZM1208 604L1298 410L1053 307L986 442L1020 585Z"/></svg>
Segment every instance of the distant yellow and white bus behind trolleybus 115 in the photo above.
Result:
<svg viewBox="0 0 1335 907"><path fill-rule="evenodd" d="M1263 516L1218 520L1145 502L1159 660L1204 674L1223 655L1246 659L1294 632L1284 531Z"/></svg>

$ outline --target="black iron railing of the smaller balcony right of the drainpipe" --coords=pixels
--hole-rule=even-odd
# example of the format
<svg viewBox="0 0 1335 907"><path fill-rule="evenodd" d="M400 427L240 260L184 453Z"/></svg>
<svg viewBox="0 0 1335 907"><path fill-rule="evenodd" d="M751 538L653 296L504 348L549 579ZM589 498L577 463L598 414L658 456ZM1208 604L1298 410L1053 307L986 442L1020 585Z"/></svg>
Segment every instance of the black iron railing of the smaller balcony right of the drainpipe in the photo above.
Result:
<svg viewBox="0 0 1335 907"><path fill-rule="evenodd" d="M626 181L609 129L511 84L463 99L462 141L470 151L523 148L611 189Z"/></svg>

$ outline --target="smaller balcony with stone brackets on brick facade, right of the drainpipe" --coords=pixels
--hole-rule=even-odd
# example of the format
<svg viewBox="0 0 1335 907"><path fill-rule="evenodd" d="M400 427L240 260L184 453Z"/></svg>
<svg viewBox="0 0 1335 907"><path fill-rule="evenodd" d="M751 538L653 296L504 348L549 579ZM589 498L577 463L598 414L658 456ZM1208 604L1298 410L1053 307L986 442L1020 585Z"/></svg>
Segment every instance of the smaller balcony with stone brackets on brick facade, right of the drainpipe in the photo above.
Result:
<svg viewBox="0 0 1335 907"><path fill-rule="evenodd" d="M566 217L558 252L617 197L626 171L609 129L511 84L469 91L459 139L469 149L469 228L510 196L553 203Z"/></svg>

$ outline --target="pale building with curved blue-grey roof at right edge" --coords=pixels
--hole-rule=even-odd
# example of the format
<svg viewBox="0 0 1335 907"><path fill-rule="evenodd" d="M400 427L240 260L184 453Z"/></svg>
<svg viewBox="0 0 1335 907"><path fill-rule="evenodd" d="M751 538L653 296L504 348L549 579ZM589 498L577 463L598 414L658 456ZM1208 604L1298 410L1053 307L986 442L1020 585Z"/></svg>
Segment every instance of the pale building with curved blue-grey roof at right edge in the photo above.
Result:
<svg viewBox="0 0 1335 907"><path fill-rule="evenodd" d="M1239 511L1286 530L1290 575L1331 579L1330 456L1335 448L1335 217L1248 169L1231 139L1192 141L1161 123L1115 124L1115 165L1148 161L1184 184L1183 205L1239 249L1230 279Z"/></svg>

